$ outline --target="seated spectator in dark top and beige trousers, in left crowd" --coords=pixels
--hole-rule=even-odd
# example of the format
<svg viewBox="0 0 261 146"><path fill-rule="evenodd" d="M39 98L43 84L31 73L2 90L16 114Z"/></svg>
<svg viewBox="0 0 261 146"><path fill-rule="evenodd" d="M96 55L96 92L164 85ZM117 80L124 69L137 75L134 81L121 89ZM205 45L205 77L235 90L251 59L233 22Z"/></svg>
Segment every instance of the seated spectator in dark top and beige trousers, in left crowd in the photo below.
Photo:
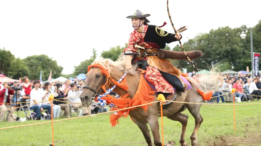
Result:
<svg viewBox="0 0 261 146"><path fill-rule="evenodd" d="M66 100L67 98L64 98L64 97L67 95L67 91L65 93L63 93L61 91L61 89L62 89L61 84L59 84L59 83L57 83L55 86L57 88L57 90L55 92L58 93L58 96L54 97L54 99L55 100L58 99L59 101ZM64 98L64 99L60 99L60 98ZM65 102L59 102L59 101L53 101L53 104L59 105L61 107L61 109L63 109L65 111L63 114L64 117L67 117L67 118L71 117L70 111L69 111L70 110L69 105L66 104Z"/></svg>

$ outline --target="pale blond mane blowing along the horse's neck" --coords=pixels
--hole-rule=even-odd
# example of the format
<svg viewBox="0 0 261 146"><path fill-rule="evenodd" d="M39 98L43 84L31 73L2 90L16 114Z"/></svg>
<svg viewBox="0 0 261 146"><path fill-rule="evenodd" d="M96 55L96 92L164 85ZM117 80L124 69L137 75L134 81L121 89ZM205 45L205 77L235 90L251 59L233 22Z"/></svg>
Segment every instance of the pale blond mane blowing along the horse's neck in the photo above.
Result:
<svg viewBox="0 0 261 146"><path fill-rule="evenodd" d="M99 63L105 69L111 72L111 68L114 67L116 70L124 71L124 73L129 73L135 75L136 66L132 66L132 69L125 70L126 57L124 55L120 55L117 61L113 61L107 58L98 57L96 58L92 64Z"/></svg>

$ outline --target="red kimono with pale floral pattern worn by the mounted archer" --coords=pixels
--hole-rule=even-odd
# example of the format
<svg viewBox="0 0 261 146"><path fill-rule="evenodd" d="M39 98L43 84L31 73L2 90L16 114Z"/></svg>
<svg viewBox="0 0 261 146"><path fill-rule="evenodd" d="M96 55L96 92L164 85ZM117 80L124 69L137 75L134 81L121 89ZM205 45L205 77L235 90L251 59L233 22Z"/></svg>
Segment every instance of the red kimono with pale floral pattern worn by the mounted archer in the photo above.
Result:
<svg viewBox="0 0 261 146"><path fill-rule="evenodd" d="M134 45L145 37L147 33L147 29L148 29L148 25L144 25L144 33L139 33L137 32L137 30L131 32L130 39L127 43L128 47L124 49L124 53L138 52L138 48L134 47ZM149 44L145 43L144 41L139 42L137 45L143 46L145 48L153 48ZM146 57L142 59L147 60ZM147 81L149 81L152 85L155 86L156 92L174 93L173 86L166 81L166 79L161 75L161 73L156 67L148 66L145 76Z"/></svg>

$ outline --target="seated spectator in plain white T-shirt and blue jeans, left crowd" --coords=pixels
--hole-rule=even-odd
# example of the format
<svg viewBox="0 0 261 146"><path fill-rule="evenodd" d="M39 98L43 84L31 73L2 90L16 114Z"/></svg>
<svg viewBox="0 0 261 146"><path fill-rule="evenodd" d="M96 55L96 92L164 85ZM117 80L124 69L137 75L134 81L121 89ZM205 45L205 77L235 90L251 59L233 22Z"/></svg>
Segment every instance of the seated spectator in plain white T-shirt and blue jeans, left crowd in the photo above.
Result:
<svg viewBox="0 0 261 146"><path fill-rule="evenodd" d="M42 100L45 98L45 96L48 94L42 95L43 90L40 89L40 82L38 80L34 80L34 88L30 92L30 104L36 103L34 105L30 105L30 109L34 110L36 112L36 120L40 120L40 112L44 109L48 109L49 114L51 113L51 105L43 105ZM40 102L40 103L37 103Z"/></svg>

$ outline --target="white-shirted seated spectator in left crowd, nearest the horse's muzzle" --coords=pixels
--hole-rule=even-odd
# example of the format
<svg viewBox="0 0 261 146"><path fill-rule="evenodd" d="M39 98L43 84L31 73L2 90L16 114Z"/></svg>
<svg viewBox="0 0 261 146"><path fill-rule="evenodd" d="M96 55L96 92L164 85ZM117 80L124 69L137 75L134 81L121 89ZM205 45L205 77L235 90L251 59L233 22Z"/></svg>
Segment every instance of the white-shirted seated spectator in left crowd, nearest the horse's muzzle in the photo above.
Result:
<svg viewBox="0 0 261 146"><path fill-rule="evenodd" d="M83 107L82 102L80 99L80 89L77 88L76 83L71 83L71 90L68 92L68 97L70 97L70 102L74 102L72 104L73 108L82 108L83 110L83 115L91 115L91 109L90 106L88 107Z"/></svg>

